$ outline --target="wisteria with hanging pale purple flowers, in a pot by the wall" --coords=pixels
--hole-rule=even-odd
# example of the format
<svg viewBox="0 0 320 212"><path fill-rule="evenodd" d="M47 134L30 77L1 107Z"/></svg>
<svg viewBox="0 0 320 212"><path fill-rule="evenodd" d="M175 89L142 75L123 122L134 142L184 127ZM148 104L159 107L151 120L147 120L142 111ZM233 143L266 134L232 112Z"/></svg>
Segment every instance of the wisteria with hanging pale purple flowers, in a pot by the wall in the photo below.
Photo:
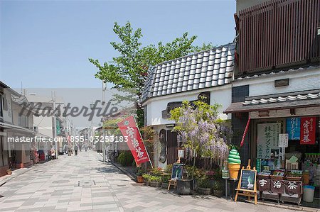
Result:
<svg viewBox="0 0 320 212"><path fill-rule="evenodd" d="M174 131L178 133L178 143L193 152L193 169L191 170L191 186L186 180L177 180L177 191L192 188L195 179L196 157L210 157L218 165L228 157L228 137L225 136L224 121L218 118L218 104L209 105L206 98L201 96L192 104L183 101L182 106L170 111L170 119L176 122ZM179 186L183 188L179 189ZM186 192L188 194L191 191Z"/></svg>

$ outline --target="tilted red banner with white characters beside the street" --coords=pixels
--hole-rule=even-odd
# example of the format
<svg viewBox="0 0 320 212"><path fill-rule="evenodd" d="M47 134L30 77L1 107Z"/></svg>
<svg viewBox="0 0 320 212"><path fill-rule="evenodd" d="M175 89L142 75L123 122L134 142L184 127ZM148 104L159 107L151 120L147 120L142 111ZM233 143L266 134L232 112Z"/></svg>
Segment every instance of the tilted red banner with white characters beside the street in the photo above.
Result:
<svg viewBox="0 0 320 212"><path fill-rule="evenodd" d="M127 145L135 162L137 164L149 162L149 155L148 152L146 152L146 147L144 146L144 142L142 141L140 131L134 117L129 116L124 119L124 121L119 122L118 126L124 136L124 140L127 141Z"/></svg>

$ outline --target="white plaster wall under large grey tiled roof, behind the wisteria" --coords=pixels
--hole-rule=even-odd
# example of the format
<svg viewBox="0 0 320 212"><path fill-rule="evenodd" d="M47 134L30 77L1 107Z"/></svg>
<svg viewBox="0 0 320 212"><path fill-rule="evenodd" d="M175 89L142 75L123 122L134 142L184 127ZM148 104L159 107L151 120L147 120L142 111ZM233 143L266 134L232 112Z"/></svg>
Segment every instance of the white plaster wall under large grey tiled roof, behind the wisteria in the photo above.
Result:
<svg viewBox="0 0 320 212"><path fill-rule="evenodd" d="M228 108L231 104L231 85L225 85L221 87L213 87L210 89L201 89L198 91L185 92L183 94L172 94L168 96L154 97L146 101L146 121L147 125L165 125L168 123L174 123L174 121L162 118L162 111L166 109L169 102L174 101L192 101L198 98L201 92L210 91L210 104L218 103L221 105L219 108L219 118L230 119L223 113L225 108Z"/></svg>

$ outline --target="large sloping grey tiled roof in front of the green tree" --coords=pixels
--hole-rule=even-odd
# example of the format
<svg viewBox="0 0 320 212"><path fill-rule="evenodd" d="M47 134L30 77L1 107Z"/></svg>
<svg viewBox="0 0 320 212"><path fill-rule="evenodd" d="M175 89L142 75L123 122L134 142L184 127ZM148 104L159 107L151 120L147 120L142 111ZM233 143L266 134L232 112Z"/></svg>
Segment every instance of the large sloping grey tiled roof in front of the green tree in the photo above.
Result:
<svg viewBox="0 0 320 212"><path fill-rule="evenodd" d="M234 59L235 43L228 43L150 67L142 102L156 96L229 84Z"/></svg>

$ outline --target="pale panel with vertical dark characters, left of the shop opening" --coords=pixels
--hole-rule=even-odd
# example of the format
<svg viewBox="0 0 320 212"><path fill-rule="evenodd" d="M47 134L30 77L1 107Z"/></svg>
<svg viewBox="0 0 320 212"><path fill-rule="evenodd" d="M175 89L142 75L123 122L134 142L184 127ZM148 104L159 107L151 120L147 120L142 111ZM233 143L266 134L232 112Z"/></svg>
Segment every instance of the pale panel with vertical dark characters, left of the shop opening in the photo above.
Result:
<svg viewBox="0 0 320 212"><path fill-rule="evenodd" d="M270 159L272 150L279 150L278 136L281 123L261 123L257 125L257 158Z"/></svg>

